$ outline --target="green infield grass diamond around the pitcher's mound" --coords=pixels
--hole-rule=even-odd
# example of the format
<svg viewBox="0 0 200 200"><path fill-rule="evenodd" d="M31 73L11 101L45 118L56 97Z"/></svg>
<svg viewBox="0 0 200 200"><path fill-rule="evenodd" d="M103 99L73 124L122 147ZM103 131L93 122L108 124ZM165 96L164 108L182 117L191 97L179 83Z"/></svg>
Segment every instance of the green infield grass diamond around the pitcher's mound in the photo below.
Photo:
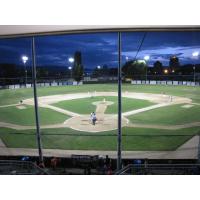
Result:
<svg viewBox="0 0 200 200"><path fill-rule="evenodd" d="M92 104L92 102L96 101L112 101L114 104L107 107L107 114L116 114L118 110L118 100L117 97L106 96L106 97L91 97L91 98L81 98L81 99L73 99L68 101L60 101L58 103L53 104L59 108L63 108L72 112L80 113L80 114L89 114L96 110L96 106ZM143 107L147 107L153 105L150 101L147 100L139 100L139 99L130 99L130 98L122 98L122 110L123 112L127 112L130 110L135 110Z"/></svg>

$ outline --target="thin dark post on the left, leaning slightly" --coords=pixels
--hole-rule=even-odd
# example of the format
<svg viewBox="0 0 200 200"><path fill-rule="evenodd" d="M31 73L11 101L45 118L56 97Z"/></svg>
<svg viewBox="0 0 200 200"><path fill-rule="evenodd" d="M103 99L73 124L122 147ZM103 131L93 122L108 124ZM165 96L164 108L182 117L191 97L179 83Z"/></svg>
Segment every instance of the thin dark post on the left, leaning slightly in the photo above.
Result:
<svg viewBox="0 0 200 200"><path fill-rule="evenodd" d="M35 38L32 37L32 80L34 92L34 105L35 105L35 121L36 121L36 137L39 151L39 162L43 163L42 145L40 136L40 121L38 115L38 99L37 99L37 86L36 86L36 60L35 60Z"/></svg>

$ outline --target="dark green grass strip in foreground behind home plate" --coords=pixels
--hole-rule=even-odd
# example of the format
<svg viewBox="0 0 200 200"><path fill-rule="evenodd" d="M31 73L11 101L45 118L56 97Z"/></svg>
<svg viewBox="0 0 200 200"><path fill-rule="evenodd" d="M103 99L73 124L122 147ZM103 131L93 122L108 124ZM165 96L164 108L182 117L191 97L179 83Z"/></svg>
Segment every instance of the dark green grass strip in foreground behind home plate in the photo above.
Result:
<svg viewBox="0 0 200 200"><path fill-rule="evenodd" d="M176 131L123 128L122 149L127 151L169 151L175 150L199 129L190 128ZM86 133L61 129L42 129L42 144L44 148L71 150L113 150L117 149L116 131L101 133ZM16 131L1 128L0 138L8 147L37 148L35 130Z"/></svg>

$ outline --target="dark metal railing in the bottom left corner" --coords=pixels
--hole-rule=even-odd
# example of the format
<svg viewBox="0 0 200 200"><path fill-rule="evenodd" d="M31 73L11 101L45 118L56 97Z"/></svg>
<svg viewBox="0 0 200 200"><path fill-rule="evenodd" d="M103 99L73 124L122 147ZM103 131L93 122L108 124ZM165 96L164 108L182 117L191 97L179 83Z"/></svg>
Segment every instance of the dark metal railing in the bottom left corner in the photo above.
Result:
<svg viewBox="0 0 200 200"><path fill-rule="evenodd" d="M0 160L0 174L45 175L47 172L30 161Z"/></svg>

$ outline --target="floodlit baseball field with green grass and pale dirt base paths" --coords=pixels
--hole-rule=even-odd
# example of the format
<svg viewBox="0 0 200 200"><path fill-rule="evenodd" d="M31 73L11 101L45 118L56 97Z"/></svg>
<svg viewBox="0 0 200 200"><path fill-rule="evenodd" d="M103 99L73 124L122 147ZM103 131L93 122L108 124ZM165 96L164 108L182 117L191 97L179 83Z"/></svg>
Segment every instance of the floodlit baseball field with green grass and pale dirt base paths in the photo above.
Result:
<svg viewBox="0 0 200 200"><path fill-rule="evenodd" d="M43 148L116 150L117 84L40 87L38 102ZM6 147L37 148L34 114L32 88L0 90ZM123 150L172 151L199 131L200 87L122 85Z"/></svg>

